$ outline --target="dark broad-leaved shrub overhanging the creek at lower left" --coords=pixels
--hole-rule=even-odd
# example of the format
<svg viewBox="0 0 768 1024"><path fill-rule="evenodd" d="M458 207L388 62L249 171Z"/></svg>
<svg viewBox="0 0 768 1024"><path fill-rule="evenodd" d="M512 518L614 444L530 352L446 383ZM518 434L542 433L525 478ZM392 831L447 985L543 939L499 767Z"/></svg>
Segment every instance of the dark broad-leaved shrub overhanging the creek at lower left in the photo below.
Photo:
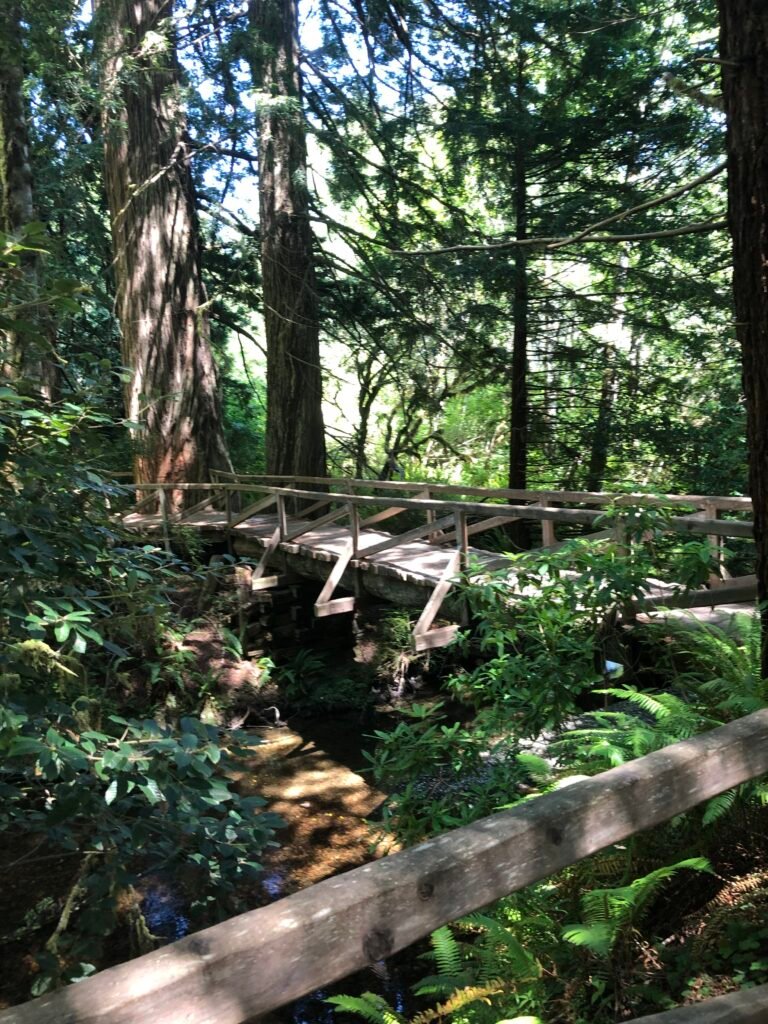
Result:
<svg viewBox="0 0 768 1024"><path fill-rule="evenodd" d="M239 887L282 824L258 813L261 798L231 791L225 774L236 766L210 726L183 718L176 733L111 715L95 728L92 711L29 693L0 707L0 825L82 858L77 913L46 946L55 955L40 963L37 994L97 961L120 894L147 867L186 871L197 923L236 911Z"/></svg>

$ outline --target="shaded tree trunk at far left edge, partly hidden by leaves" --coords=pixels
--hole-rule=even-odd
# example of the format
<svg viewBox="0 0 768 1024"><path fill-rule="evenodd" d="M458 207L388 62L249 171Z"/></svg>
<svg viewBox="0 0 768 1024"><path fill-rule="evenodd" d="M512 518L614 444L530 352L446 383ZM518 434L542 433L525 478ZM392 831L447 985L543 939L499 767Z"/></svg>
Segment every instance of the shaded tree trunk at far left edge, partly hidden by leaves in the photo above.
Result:
<svg viewBox="0 0 768 1024"><path fill-rule="evenodd" d="M30 137L24 95L24 40L17 2L0 16L0 230L14 234L35 220ZM27 388L48 400L57 383L53 357L53 322L40 297L40 263L35 253L25 254L15 297L27 305L24 334L0 331L0 375L22 379Z"/></svg>

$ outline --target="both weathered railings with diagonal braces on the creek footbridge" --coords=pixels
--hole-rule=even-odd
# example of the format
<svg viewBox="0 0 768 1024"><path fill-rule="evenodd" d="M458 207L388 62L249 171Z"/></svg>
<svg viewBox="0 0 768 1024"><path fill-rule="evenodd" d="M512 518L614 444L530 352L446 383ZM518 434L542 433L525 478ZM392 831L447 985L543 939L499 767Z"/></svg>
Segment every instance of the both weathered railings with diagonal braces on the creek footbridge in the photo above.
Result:
<svg viewBox="0 0 768 1024"><path fill-rule="evenodd" d="M284 574L274 574L269 568L279 549L284 552L306 552L308 548L304 541L307 535L314 532L316 539L317 530L339 525L342 520L346 520L346 540L335 555L335 564L315 602L314 611L318 616L350 611L354 607L353 597L334 597L348 569L369 569L375 564L377 572L412 583L413 572L398 566L396 558L391 557L396 554L395 549L401 550L404 545L414 542L443 549L447 547L450 557L444 561L439 579L433 582L433 592L416 624L414 644L417 650L443 646L455 636L459 629L457 625L433 628L433 623L456 579L468 565L472 551L469 547L470 538L485 530L520 520L537 522L542 528L544 548L552 550L560 546L555 531L556 524L564 524L571 531L574 527L594 530L595 527L604 525L601 520L604 520L605 512L590 506L611 505L621 508L640 504L649 507L692 508L692 513L668 517L665 528L683 535L707 536L718 552L721 565L723 539L751 538L753 532L749 521L718 518L721 511L727 511L730 515L743 515L751 508L750 499L745 498L515 492L400 480L325 477L286 477L285 482L291 485L282 486L267 482L275 479L274 477L244 475L237 479L230 478L234 476L236 474L219 473L214 482L206 484L136 484L135 489L143 492L144 497L137 503L134 514L140 513L144 507L158 508L154 519L153 516L140 516L140 521L144 527L152 527L154 524L161 528L168 548L173 524L186 523L205 527L206 523L215 523L231 540L237 530L250 527L256 521L254 517L271 516L273 526L269 537L263 542L261 557L251 573L250 586L254 591L275 586L285 579ZM283 477L279 479L284 480ZM318 489L321 486L323 489ZM335 489L337 487L338 490ZM371 490L384 494L362 493ZM206 494L191 507L171 511L169 496L173 496L178 503L178 497L185 492L191 492L196 496L201 492ZM464 497L458 499L457 494ZM481 500L477 501L478 498ZM567 508L566 504L577 507ZM219 510L212 513L214 505L218 505ZM301 511L294 511L298 507ZM410 514L412 521L413 516L417 515L422 520L421 524L410 525L399 532L381 534L377 529L376 534L371 534L373 527L380 527L382 523L403 513ZM626 535L623 531L624 524L618 518L608 529L588 532L584 539L591 542L612 539L624 545ZM261 540L259 543L262 543ZM316 546L313 552L313 557L317 557ZM388 559L387 555L390 556ZM508 559L504 556L493 558L487 553L483 556L486 569L508 564ZM420 583L424 585L423 580ZM712 579L709 590L692 593L683 591L683 588L668 589L655 597L649 597L644 604L675 603L693 607L749 600L755 596L756 580L755 577L748 575L723 582L718 574Z"/></svg>

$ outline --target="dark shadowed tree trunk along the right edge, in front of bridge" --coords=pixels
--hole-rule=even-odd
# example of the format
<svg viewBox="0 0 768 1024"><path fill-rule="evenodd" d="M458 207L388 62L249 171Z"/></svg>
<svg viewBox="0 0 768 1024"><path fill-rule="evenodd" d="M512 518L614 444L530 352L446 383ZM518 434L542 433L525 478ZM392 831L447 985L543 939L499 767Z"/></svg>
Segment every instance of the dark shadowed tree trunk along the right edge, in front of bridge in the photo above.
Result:
<svg viewBox="0 0 768 1024"><path fill-rule="evenodd" d="M741 344L763 676L768 677L768 6L719 0L728 122L728 219Z"/></svg>

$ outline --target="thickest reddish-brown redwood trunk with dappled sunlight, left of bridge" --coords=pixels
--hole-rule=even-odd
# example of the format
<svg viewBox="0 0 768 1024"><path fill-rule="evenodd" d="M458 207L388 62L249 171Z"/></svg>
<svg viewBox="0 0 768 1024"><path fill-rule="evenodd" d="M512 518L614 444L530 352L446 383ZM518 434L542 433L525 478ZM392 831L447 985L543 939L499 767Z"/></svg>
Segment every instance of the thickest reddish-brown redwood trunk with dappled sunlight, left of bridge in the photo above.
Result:
<svg viewBox="0 0 768 1024"><path fill-rule="evenodd" d="M222 429L172 0L100 0L102 126L136 482L231 469ZM174 504L181 504L181 493Z"/></svg>

